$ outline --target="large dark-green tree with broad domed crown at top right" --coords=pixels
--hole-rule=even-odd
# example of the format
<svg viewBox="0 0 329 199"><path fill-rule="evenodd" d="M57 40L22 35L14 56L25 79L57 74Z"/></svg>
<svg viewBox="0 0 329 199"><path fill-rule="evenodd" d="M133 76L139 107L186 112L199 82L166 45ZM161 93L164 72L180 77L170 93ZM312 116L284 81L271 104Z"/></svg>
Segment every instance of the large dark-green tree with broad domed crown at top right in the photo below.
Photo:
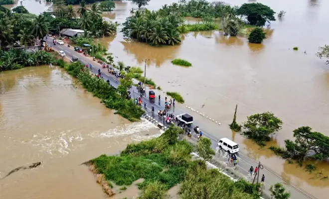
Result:
<svg viewBox="0 0 329 199"><path fill-rule="evenodd" d="M237 14L246 16L251 25L263 26L265 22L275 21L275 11L262 3L243 3Z"/></svg>

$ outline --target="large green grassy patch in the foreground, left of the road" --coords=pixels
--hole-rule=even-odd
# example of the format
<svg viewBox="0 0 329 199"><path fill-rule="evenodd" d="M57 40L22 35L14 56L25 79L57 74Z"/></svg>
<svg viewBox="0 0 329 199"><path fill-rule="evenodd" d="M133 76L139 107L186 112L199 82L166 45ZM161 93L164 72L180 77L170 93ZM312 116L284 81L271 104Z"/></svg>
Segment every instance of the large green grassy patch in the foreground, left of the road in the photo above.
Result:
<svg viewBox="0 0 329 199"><path fill-rule="evenodd" d="M170 126L160 137L138 144L128 144L120 156L101 155L89 162L90 169L103 179L103 187L111 182L129 186L138 179L140 199L163 199L166 191L181 183L182 199L253 199L256 186L243 180L234 183L216 169L207 170L203 160L192 160L193 147L179 141L183 131ZM104 190L108 192L108 190ZM112 194L112 192L110 192Z"/></svg>

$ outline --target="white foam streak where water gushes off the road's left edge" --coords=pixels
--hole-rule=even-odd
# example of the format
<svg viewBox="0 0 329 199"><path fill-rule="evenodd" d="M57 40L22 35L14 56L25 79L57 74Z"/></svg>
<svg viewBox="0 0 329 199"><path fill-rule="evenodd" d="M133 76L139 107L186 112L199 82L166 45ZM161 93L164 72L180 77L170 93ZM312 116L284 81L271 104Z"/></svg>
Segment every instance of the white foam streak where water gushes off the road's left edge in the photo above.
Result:
<svg viewBox="0 0 329 199"><path fill-rule="evenodd" d="M117 126L106 132L95 131L88 135L91 137L100 137L100 138L121 137L121 136L132 135L134 133L139 133L142 131L149 131L150 129L154 129L154 128L157 127L152 122L142 118L142 121L140 122L134 122L134 123Z"/></svg>

